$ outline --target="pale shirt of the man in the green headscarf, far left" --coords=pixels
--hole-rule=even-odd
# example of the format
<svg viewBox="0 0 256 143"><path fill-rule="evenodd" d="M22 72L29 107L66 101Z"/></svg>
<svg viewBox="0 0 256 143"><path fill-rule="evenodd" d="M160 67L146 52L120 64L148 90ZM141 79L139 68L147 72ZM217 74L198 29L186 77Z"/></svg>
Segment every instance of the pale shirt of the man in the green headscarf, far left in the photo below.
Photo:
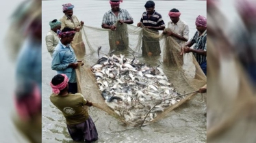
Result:
<svg viewBox="0 0 256 143"><path fill-rule="evenodd" d="M45 36L45 42L47 44L47 50L51 54L51 57L53 57L53 52L57 44L59 44L59 37L57 37L57 33L50 30L47 35Z"/></svg>

